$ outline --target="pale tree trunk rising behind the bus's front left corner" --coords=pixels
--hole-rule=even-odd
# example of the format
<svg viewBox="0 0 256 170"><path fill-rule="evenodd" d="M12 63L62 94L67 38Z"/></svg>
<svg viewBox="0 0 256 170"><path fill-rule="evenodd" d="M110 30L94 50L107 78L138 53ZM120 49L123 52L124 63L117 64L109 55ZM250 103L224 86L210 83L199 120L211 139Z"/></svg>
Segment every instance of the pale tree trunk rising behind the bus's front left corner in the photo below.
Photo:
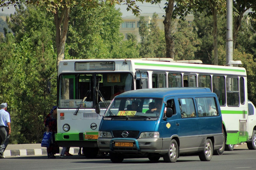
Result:
<svg viewBox="0 0 256 170"><path fill-rule="evenodd" d="M69 1L66 1L69 3ZM54 14L54 22L56 25L56 49L57 49L57 70L61 60L64 60L65 42L68 33L68 21L69 21L70 7L65 5L59 16L59 10L56 9ZM62 27L62 29L61 29Z"/></svg>

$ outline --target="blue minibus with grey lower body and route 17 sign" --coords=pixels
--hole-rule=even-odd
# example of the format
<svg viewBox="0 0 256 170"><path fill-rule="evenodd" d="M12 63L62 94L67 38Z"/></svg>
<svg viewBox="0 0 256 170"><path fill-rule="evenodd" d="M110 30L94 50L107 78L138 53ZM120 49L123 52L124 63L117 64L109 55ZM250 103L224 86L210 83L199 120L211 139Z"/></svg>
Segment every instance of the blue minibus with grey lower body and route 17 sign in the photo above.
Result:
<svg viewBox="0 0 256 170"><path fill-rule="evenodd" d="M203 87L140 89L117 95L100 122L97 141L114 163L138 156L176 162L181 154L190 153L210 161L224 142L217 95Z"/></svg>

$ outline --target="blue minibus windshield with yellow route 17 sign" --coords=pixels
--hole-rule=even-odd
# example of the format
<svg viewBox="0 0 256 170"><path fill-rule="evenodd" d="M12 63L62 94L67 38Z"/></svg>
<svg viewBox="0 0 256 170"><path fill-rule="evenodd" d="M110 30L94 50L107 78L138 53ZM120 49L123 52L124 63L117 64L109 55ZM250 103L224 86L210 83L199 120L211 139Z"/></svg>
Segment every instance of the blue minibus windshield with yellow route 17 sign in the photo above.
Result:
<svg viewBox="0 0 256 170"><path fill-rule="evenodd" d="M159 98L115 98L105 117L158 117L162 107Z"/></svg>

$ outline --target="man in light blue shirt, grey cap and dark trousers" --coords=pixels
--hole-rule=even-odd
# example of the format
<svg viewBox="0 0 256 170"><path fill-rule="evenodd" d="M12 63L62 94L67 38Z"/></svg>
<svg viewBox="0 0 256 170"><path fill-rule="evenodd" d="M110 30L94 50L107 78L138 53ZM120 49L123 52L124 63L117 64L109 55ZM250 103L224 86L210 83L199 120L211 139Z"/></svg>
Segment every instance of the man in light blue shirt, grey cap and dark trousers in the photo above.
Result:
<svg viewBox="0 0 256 170"><path fill-rule="evenodd" d="M6 112L7 103L1 103L0 107L0 158L4 158L3 154L11 134L11 119L9 113Z"/></svg>

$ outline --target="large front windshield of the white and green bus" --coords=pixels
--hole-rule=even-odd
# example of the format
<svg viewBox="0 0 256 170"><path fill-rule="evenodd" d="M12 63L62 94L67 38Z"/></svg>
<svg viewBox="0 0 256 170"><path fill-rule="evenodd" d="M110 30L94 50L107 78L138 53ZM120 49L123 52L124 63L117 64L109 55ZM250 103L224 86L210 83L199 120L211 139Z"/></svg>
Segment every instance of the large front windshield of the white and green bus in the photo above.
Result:
<svg viewBox="0 0 256 170"><path fill-rule="evenodd" d="M131 73L61 74L58 106L60 108L107 108L112 98L134 88Z"/></svg>

